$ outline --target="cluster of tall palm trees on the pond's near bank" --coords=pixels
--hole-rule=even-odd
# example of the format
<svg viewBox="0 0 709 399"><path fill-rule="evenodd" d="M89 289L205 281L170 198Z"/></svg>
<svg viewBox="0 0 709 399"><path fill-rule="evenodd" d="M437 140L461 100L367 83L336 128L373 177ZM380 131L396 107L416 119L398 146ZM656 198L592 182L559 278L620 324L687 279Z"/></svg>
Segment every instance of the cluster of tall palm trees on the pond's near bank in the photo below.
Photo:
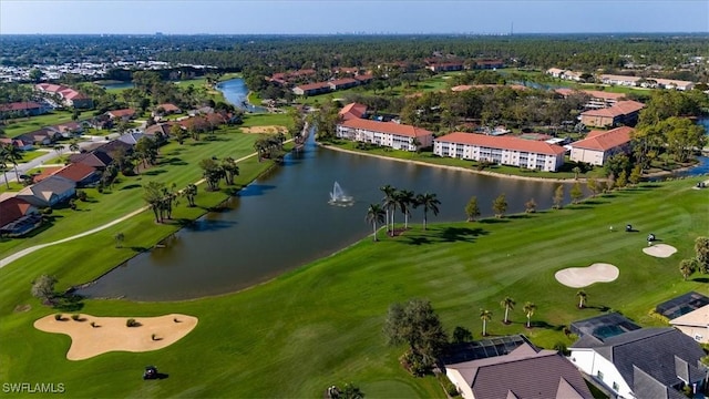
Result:
<svg viewBox="0 0 709 399"><path fill-rule="evenodd" d="M409 216L411 216L412 208L423 207L423 229L427 227L429 211L434 215L439 214L441 201L436 198L435 194L414 194L409 190L397 190L389 184L379 187L379 190L384 193L382 204L371 204L367 208L367 222L372 224L374 241L377 241L377 224L380 223L386 223L387 233L391 236L394 235L397 209L400 209L404 216L404 229L409 228Z"/></svg>

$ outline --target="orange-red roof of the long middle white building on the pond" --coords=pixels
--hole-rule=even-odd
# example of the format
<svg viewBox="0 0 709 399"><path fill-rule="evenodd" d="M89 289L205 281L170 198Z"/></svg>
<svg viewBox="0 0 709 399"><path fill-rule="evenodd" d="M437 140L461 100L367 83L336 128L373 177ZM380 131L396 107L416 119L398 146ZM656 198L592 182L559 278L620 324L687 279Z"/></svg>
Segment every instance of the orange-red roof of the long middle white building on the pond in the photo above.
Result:
<svg viewBox="0 0 709 399"><path fill-rule="evenodd" d="M491 149L504 149L512 151L525 151L530 153L558 155L566 150L556 144L549 144L542 141L524 140L512 136L491 136L477 133L454 132L438 137L434 142L446 142L456 144L470 144L485 146Z"/></svg>

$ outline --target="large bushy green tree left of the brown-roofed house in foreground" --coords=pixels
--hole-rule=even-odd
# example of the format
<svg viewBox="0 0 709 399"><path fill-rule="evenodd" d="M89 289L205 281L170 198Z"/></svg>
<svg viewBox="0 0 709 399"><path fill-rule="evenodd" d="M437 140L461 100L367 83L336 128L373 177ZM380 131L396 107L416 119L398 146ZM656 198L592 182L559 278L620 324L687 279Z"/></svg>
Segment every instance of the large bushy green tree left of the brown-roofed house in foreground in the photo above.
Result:
<svg viewBox="0 0 709 399"><path fill-rule="evenodd" d="M443 325L431 303L427 299L410 299L407 304L389 306L384 321L384 335L389 345L408 344L412 354L429 366L448 342Z"/></svg>

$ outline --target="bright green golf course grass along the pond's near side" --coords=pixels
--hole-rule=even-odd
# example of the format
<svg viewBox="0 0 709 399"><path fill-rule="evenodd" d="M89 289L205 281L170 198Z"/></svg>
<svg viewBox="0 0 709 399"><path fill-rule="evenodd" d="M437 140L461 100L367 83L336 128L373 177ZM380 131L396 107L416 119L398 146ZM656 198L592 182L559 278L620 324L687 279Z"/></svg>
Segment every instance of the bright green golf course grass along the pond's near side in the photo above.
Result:
<svg viewBox="0 0 709 399"><path fill-rule="evenodd" d="M644 326L660 325L648 316L659 301L689 290L709 294L703 276L685 282L678 270L680 259L693 255L693 239L709 232L707 193L692 188L698 181L647 184L564 209L502 219L434 224L428 231L413 224L395 238L380 231L379 243L364 237L337 255L230 295L175 303L86 300L81 311L95 316L183 313L199 323L162 350L66 360L68 336L32 327L55 310L30 296L29 282L51 273L65 288L104 273L131 256L131 246L150 245L154 231L167 229L145 213L0 269L0 380L62 382L71 397L306 398L321 396L333 383L353 382L371 398L444 398L434 378L402 370L398 357L403 347L384 345L381 330L390 304L428 298L449 334L462 326L475 338L482 330L479 311L489 309L492 336L522 332L547 348L572 344L563 326L600 309L620 310ZM188 212L181 206L177 217ZM621 232L627 223L639 233ZM608 225L618 228L610 233ZM121 249L112 239L119 231L126 236ZM645 255L650 232L678 253ZM577 289L558 284L554 273L598 262L616 265L620 276L586 287L588 307L579 310ZM505 296L517 303L511 325L502 323ZM531 329L524 327L525 301L538 307ZM16 311L19 305L31 309ZM169 378L143 381L146 365Z"/></svg>

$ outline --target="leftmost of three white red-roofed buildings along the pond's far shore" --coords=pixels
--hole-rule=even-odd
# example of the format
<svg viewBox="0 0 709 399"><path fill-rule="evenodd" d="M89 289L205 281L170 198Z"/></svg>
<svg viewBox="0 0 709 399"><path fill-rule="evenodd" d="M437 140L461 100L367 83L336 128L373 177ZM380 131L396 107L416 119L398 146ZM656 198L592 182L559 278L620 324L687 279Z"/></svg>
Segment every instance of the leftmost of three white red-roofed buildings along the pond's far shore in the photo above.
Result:
<svg viewBox="0 0 709 399"><path fill-rule="evenodd" d="M425 129L363 119L341 122L337 125L337 136L404 151L418 151L433 143L433 133Z"/></svg>

